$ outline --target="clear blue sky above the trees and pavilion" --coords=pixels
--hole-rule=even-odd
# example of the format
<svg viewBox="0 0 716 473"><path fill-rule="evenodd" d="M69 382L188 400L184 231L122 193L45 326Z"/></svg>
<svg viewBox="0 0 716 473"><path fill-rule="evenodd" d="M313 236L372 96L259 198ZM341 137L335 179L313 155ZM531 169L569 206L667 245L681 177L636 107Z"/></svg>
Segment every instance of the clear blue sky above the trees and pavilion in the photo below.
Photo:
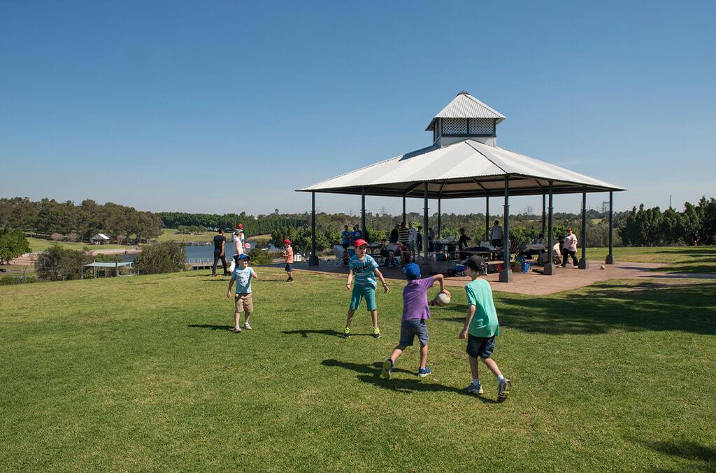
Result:
<svg viewBox="0 0 716 473"><path fill-rule="evenodd" d="M616 209L716 196L716 2L505 3L4 1L0 196L306 211L294 189L429 145L460 90L499 145L628 187Z"/></svg>

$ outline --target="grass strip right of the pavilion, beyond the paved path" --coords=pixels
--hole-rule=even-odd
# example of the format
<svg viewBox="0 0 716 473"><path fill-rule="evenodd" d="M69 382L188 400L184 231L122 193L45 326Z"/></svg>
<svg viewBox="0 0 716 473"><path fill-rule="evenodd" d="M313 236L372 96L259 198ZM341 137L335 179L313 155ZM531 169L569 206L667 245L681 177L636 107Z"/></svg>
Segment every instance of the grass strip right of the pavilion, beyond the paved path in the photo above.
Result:
<svg viewBox="0 0 716 473"><path fill-rule="evenodd" d="M577 249L577 256L581 249ZM603 262L607 248L587 249L587 258ZM617 262L669 263L668 272L716 273L716 247L623 247L614 248ZM663 271L664 269L659 269Z"/></svg>

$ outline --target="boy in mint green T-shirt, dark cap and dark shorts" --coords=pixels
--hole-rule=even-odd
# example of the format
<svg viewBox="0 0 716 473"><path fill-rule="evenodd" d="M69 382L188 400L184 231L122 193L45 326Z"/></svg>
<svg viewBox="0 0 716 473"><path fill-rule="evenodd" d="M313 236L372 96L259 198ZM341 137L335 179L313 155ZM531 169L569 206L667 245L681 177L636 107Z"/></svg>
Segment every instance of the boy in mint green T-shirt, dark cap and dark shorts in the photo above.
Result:
<svg viewBox="0 0 716 473"><path fill-rule="evenodd" d="M500 326L490 283L480 278L480 274L485 272L485 260L472 256L465 265L468 267L470 279L473 279L465 286L465 292L468 293L468 315L465 317L465 327L460 332L460 338L468 339L467 351L470 356L470 371L473 373L473 382L467 390L471 394L483 393L478 376L479 357L488 370L497 376L497 400L503 402L510 395L511 383L502 376L497 363L491 358L495 350L495 336L500 335Z"/></svg>

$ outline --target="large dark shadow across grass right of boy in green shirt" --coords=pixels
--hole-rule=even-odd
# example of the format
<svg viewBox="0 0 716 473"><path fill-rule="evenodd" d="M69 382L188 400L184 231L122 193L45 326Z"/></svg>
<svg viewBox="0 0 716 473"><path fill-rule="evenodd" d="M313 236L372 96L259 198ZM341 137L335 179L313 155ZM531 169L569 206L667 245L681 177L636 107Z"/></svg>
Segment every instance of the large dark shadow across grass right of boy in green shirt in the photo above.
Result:
<svg viewBox="0 0 716 473"><path fill-rule="evenodd" d="M495 297L500 325L529 333L589 335L609 330L679 330L716 334L714 282L596 283L581 294ZM464 305L442 307L436 320L465 321Z"/></svg>

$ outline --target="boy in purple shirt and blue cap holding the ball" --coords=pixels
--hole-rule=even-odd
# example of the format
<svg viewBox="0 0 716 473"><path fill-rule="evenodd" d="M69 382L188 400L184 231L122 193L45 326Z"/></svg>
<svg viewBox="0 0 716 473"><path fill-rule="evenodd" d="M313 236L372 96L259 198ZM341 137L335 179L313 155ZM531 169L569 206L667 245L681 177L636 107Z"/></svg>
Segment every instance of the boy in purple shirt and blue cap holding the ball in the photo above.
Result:
<svg viewBox="0 0 716 473"><path fill-rule="evenodd" d="M437 281L440 283L440 292L445 292L450 297L450 292L445 290L443 285L445 278L442 277L442 274L420 279L420 266L415 263L406 264L403 274L407 279L407 285L403 290L400 342L390 358L383 362L380 376L386 379L390 378L395 362L403 350L412 345L415 335L420 340L420 368L417 370L417 376L425 377L430 374L430 368L427 368L427 324L425 323L425 320L430 318L430 310L427 308L427 290Z"/></svg>

